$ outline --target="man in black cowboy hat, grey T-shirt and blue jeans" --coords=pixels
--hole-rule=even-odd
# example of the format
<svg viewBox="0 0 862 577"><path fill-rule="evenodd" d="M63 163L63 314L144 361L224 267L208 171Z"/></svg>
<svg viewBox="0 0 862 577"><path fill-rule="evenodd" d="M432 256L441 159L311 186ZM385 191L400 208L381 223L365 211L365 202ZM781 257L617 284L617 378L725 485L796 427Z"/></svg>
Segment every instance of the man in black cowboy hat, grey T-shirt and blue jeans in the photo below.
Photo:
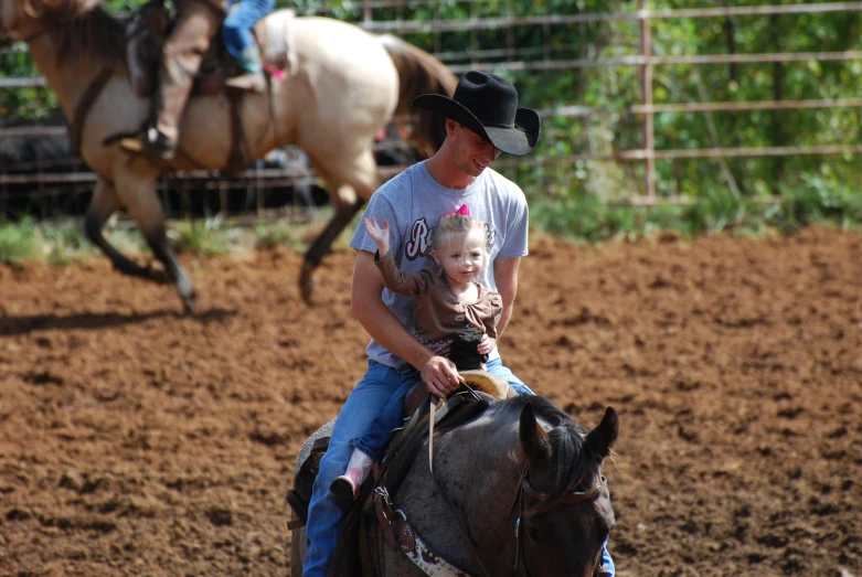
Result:
<svg viewBox="0 0 862 577"><path fill-rule="evenodd" d="M365 216L389 223L390 247L398 268L418 271L429 264L428 231L440 216L466 204L475 218L486 223L490 257L479 280L503 299L498 323L498 334L502 333L512 313L520 259L528 254L528 207L521 189L489 165L500 152L525 156L535 149L539 115L518 108L518 92L510 82L475 71L461 76L451 98L423 95L414 106L445 117L446 140L434 157L381 186ZM306 531L305 577L327 574L344 525L347 515L329 487L348 466L350 441L365 434L391 393L405 381L421 378L436 395L459 386L455 364L436 356L408 331L413 297L384 289L374 265L376 245L363 226L356 228L350 246L356 249L352 310L372 336L369 370L344 403L320 462ZM517 393L532 394L503 366L496 343L486 346L491 348L488 371L509 382Z"/></svg>

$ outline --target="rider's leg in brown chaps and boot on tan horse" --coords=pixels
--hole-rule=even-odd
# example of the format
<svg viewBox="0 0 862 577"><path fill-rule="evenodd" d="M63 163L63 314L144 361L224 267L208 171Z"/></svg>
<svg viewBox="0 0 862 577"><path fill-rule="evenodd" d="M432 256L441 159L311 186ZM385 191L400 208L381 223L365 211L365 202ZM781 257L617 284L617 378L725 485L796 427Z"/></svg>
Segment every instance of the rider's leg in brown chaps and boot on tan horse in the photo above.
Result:
<svg viewBox="0 0 862 577"><path fill-rule="evenodd" d="M155 101L156 129L166 146L175 150L179 125L194 75L221 25L221 15L210 0L181 0L180 13L162 49L159 94Z"/></svg>

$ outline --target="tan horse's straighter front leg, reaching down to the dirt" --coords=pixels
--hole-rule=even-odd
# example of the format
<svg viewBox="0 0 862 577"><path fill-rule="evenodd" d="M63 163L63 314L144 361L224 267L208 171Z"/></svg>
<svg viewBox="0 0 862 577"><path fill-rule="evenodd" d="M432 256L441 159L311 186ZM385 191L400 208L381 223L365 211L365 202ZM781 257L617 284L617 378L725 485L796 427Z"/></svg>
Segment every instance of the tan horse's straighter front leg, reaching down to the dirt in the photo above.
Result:
<svg viewBox="0 0 862 577"><path fill-rule="evenodd" d="M117 173L116 191L120 203L138 223L152 254L164 265L164 273L177 287L187 313L195 311L194 287L177 259L177 254L168 241L164 227L164 213L156 196L155 177L141 177L135 173Z"/></svg>

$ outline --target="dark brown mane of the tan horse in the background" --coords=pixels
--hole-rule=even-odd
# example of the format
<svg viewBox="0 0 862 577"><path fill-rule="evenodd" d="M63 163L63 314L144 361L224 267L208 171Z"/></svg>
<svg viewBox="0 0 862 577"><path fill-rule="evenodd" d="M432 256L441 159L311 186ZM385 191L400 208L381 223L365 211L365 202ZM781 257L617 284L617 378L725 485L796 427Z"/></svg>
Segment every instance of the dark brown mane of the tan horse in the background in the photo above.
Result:
<svg viewBox="0 0 862 577"><path fill-rule="evenodd" d="M40 22L56 30L60 51L57 64L81 54L126 66L126 29L123 23L92 0L61 0L46 9Z"/></svg>

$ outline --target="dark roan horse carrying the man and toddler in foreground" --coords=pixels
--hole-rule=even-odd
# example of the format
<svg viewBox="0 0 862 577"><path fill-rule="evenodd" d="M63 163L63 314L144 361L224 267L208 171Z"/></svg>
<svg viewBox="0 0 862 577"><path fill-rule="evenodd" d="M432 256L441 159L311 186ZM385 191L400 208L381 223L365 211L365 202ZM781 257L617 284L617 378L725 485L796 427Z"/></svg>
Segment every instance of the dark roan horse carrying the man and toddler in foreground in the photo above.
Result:
<svg viewBox="0 0 862 577"><path fill-rule="evenodd" d="M394 494L375 488L377 517L382 510L389 521L370 515L362 527L363 576L596 573L614 527L602 464L619 432L616 412L587 434L544 397L480 396L440 423L433 472L426 438ZM381 528L390 522L397 551ZM304 545L296 532L295 576Z"/></svg>

